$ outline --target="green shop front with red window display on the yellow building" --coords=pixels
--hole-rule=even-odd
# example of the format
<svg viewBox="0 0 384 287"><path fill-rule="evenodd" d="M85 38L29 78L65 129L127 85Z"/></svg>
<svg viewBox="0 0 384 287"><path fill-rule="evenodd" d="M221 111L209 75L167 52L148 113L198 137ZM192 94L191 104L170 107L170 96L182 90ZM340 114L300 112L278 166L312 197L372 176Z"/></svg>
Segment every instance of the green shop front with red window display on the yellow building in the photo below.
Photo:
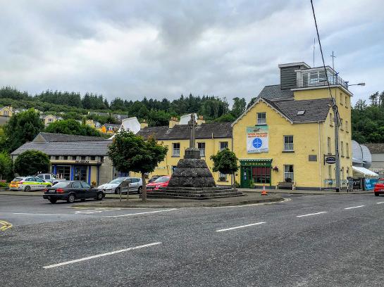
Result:
<svg viewBox="0 0 384 287"><path fill-rule="evenodd" d="M271 186L272 159L240 160L240 187Z"/></svg>

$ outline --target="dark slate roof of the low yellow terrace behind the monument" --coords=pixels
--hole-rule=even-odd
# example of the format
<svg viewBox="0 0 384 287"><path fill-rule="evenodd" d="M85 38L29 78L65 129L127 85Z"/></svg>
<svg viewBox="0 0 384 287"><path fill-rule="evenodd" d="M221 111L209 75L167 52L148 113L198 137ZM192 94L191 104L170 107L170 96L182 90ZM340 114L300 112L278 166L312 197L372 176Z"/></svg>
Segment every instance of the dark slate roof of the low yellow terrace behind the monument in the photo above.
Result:
<svg viewBox="0 0 384 287"><path fill-rule="evenodd" d="M146 127L137 133L147 139L153 135L157 140L166 139L190 139L190 128L188 125L175 125L172 129L168 126ZM196 127L196 139L215 139L232 137L232 126L230 122L212 122Z"/></svg>

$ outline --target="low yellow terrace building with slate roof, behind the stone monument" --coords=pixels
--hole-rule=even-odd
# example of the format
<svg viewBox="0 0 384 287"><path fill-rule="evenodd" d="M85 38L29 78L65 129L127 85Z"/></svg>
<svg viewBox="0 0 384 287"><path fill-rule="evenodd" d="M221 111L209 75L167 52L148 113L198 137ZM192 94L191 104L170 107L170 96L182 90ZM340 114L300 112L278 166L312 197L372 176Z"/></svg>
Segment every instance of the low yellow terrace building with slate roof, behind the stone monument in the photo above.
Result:
<svg viewBox="0 0 384 287"><path fill-rule="evenodd" d="M185 119L190 118L186 115ZM148 138L154 136L155 139L165 146L168 146L166 159L156 167L156 170L149 174L152 175L171 175L178 165L178 161L184 158L185 148L190 147L190 127L186 125L183 118L180 122L176 118L172 118L168 126L163 127L144 127L137 134ZM202 117L197 119L196 127L196 147L200 150L202 159L206 160L209 170L213 173L213 177L217 184L231 184L230 176L213 172L213 162L210 160L211 155L216 154L223 148L232 148L232 127L230 122L215 122L206 124ZM140 174L134 174L140 176Z"/></svg>

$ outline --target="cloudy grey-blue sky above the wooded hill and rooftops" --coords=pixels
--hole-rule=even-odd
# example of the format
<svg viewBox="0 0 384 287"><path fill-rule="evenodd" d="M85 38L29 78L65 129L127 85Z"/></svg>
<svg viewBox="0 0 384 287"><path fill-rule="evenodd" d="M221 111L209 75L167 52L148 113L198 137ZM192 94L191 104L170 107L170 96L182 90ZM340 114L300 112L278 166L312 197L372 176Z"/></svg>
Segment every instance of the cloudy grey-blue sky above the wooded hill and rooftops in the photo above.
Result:
<svg viewBox="0 0 384 287"><path fill-rule="evenodd" d="M384 91L384 1L314 4L326 63L366 82L354 102ZM249 101L279 63L313 65L315 33L309 0L0 0L0 86Z"/></svg>

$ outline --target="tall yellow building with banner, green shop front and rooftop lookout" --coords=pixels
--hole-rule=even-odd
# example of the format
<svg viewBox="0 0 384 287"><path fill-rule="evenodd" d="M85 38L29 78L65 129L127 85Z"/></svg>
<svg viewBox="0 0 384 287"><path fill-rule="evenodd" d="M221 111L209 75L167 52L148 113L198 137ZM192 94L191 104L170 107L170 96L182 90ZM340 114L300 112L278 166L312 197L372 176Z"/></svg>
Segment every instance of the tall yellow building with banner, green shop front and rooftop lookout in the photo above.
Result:
<svg viewBox="0 0 384 287"><path fill-rule="evenodd" d="M236 180L242 187L290 179L297 189L335 187L333 99L324 69L302 62L279 68L280 84L264 87L233 122L233 151L240 159ZM327 72L340 113L340 178L346 186L352 176L352 93L332 68Z"/></svg>

